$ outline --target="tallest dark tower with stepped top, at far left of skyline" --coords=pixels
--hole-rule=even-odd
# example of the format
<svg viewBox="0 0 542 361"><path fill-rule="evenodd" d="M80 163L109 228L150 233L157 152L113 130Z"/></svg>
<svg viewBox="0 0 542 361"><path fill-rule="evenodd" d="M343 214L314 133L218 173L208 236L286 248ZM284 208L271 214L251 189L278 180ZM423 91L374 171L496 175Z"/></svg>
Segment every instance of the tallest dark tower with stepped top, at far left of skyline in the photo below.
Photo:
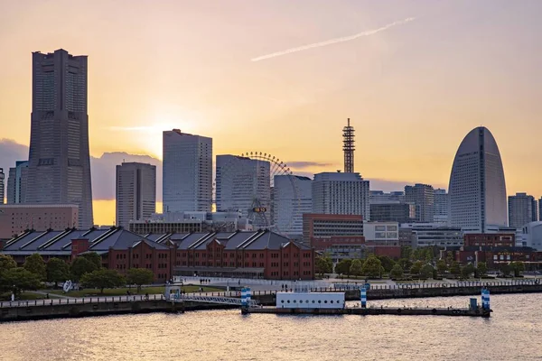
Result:
<svg viewBox="0 0 542 361"><path fill-rule="evenodd" d="M33 102L25 203L77 204L92 227L87 56L33 52Z"/></svg>

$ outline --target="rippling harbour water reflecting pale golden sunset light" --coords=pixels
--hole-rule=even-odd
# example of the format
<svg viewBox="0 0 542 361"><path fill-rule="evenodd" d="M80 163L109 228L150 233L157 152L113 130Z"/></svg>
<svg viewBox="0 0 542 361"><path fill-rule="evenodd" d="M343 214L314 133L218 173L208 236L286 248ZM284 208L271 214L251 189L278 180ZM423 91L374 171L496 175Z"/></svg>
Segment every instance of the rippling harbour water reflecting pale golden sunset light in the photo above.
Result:
<svg viewBox="0 0 542 361"><path fill-rule="evenodd" d="M468 297L369 301L465 306ZM0 325L2 360L531 360L542 356L542 295L491 297L491 319L241 316L238 310Z"/></svg>

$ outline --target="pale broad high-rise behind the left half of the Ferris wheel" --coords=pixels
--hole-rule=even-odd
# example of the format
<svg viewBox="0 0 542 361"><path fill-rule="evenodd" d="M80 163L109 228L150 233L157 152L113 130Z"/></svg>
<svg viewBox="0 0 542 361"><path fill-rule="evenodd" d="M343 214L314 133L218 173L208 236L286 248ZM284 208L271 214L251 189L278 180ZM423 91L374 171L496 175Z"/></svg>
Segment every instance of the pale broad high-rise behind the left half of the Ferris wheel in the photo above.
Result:
<svg viewBox="0 0 542 361"><path fill-rule="evenodd" d="M271 218L271 165L248 157L217 155L217 211L240 211L255 229L269 226Z"/></svg>

